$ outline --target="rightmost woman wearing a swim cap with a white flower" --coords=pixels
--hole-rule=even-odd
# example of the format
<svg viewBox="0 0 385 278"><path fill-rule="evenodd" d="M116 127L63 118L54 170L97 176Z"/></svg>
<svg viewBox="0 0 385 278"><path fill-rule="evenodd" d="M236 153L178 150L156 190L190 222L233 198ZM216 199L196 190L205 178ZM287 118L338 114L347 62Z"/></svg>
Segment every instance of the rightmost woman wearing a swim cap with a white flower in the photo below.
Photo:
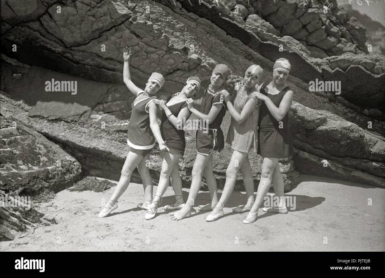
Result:
<svg viewBox="0 0 385 278"><path fill-rule="evenodd" d="M268 85L262 84L259 92L253 93L262 101L259 110L259 140L258 154L263 158L261 181L259 181L257 196L253 207L243 223L253 223L258 217L258 209L263 203L271 182L275 196L280 200L278 207L263 208L263 211L287 213L283 195L284 183L278 161L293 155L289 115L294 93L286 84L290 72L290 62L279 58L274 63L273 81Z"/></svg>

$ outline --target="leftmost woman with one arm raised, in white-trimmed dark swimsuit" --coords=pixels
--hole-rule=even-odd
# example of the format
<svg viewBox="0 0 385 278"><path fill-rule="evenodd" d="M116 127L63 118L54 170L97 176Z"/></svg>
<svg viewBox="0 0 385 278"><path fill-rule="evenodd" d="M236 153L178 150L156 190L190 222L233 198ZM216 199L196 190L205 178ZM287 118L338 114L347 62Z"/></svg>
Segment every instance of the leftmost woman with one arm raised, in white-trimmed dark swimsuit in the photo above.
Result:
<svg viewBox="0 0 385 278"><path fill-rule="evenodd" d="M117 200L127 189L132 171L134 171L136 167L138 167L139 174L143 181L145 196L145 202L139 204L138 207L147 210L152 200L152 178L146 161L150 159L151 150L155 146L155 139L159 144L161 152L168 151L156 120L157 107L154 103L154 99L156 99L155 94L164 85L164 78L160 73L154 72L148 79L144 90L136 87L131 81L129 70L130 57L131 48L128 51L126 47L123 50L123 81L129 91L136 96L131 106L132 112L128 125L127 144L130 148L121 171L119 183L110 200L105 204L102 211L100 211L99 217L105 217L117 208Z"/></svg>

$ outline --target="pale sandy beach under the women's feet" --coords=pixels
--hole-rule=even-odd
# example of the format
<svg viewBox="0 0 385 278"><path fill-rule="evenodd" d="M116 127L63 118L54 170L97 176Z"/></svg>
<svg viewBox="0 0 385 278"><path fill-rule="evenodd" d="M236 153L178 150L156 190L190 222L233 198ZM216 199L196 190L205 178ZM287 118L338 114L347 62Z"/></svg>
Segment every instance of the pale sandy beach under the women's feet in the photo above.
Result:
<svg viewBox="0 0 385 278"><path fill-rule="evenodd" d="M246 201L244 192L233 192L225 216L206 222L208 212L199 206L209 201L200 191L190 218L172 221L161 207L152 220L137 208L142 185L131 183L110 216L98 218L101 193L63 190L39 211L55 216L57 224L39 226L13 241L0 242L1 251L385 251L385 189L357 183L301 175L300 184L286 196L295 197L296 209L284 215L259 209L255 223L245 225L246 213L231 208ZM154 192L156 186L154 186ZM187 199L188 189L183 189ZM219 193L220 195L221 193ZM269 193L270 194L270 193ZM368 199L372 205L368 205ZM162 206L174 201L171 186Z"/></svg>

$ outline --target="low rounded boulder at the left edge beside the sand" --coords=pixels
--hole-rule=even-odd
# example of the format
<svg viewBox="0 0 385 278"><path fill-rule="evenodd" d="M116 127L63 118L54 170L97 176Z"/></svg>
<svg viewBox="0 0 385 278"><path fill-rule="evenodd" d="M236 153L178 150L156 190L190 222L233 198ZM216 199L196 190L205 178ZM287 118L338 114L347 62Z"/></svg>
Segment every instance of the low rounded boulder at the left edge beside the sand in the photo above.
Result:
<svg viewBox="0 0 385 278"><path fill-rule="evenodd" d="M13 112L2 107L0 115L1 189L48 200L52 193L79 179L81 166L59 146L14 118Z"/></svg>

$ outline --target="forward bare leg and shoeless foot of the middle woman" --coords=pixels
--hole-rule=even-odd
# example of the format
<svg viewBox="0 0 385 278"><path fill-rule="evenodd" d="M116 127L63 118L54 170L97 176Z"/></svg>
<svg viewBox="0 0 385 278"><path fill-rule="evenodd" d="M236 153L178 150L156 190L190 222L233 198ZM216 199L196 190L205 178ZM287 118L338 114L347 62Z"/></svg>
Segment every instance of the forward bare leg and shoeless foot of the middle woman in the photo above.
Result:
<svg viewBox="0 0 385 278"><path fill-rule="evenodd" d="M175 213L171 213L172 220L181 220L191 215L192 206L194 205L196 196L198 196L199 189L201 188L203 169L206 167L206 164L211 156L212 153L210 155L201 155L197 153L194 166L192 167L192 181L189 197L187 199L186 205L184 205L181 210Z"/></svg>

